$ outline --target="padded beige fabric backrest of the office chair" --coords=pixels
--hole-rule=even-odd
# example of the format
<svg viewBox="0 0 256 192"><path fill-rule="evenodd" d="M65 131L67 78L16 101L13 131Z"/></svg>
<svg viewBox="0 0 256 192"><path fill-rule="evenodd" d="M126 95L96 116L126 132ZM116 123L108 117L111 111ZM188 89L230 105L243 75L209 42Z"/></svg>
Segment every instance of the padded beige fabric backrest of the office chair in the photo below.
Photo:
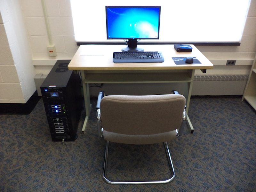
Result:
<svg viewBox="0 0 256 192"><path fill-rule="evenodd" d="M100 103L101 126L107 132L152 135L179 129L183 95L108 95Z"/></svg>

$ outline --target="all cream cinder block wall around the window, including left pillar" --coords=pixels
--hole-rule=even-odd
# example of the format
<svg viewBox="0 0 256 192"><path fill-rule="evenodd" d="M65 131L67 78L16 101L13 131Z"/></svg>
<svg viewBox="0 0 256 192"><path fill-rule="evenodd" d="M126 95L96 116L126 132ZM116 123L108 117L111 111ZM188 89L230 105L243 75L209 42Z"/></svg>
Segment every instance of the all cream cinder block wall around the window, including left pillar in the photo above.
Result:
<svg viewBox="0 0 256 192"><path fill-rule="evenodd" d="M1 0L0 103L26 102L36 90L34 76L47 75L57 60L72 59L78 49L70 0L45 0L45 5L56 57L48 56L42 1ZM12 30L6 30L9 23ZM214 65L205 75L249 74L256 52L255 23L256 0L252 0L240 46L197 47ZM237 60L236 65L226 66L227 60ZM195 75L204 74L196 70Z"/></svg>

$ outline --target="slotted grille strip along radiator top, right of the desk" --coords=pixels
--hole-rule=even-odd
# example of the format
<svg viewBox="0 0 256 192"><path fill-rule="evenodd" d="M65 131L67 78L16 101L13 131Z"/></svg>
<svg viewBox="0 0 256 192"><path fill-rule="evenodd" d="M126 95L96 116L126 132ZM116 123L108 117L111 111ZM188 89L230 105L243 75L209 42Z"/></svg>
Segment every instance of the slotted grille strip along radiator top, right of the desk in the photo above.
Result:
<svg viewBox="0 0 256 192"><path fill-rule="evenodd" d="M249 75L205 75L194 76L194 81L247 81Z"/></svg>

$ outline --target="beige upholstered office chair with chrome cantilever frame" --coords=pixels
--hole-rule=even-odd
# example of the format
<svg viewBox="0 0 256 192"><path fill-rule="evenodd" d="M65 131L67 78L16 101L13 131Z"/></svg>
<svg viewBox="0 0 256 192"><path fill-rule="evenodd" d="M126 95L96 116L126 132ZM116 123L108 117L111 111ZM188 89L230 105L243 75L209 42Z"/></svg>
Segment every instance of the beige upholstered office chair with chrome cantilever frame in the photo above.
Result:
<svg viewBox="0 0 256 192"><path fill-rule="evenodd" d="M173 92L165 95L108 95L100 92L97 102L99 136L106 142L103 179L109 184L168 183L175 177L167 145L180 136L186 123L186 99ZM176 94L175 94L176 93ZM172 177L167 180L111 181L107 179L109 142L124 144L164 143Z"/></svg>

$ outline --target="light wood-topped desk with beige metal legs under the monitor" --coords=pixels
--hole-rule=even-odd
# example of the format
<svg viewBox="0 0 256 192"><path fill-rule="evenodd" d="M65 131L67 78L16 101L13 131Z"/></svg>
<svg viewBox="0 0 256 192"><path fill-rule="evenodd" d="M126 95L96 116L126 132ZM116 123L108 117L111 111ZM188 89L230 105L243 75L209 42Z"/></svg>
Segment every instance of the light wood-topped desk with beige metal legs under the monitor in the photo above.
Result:
<svg viewBox="0 0 256 192"><path fill-rule="evenodd" d="M194 46L192 52L176 52L173 45L140 45L144 51L161 51L162 63L114 63L113 52L120 52L124 45L80 45L71 62L70 70L81 70L83 79L86 117L82 128L85 132L91 112L90 83L187 83L187 113L195 69L211 69L212 63ZM172 57L196 57L202 64L176 65ZM194 128L187 117L188 127Z"/></svg>

